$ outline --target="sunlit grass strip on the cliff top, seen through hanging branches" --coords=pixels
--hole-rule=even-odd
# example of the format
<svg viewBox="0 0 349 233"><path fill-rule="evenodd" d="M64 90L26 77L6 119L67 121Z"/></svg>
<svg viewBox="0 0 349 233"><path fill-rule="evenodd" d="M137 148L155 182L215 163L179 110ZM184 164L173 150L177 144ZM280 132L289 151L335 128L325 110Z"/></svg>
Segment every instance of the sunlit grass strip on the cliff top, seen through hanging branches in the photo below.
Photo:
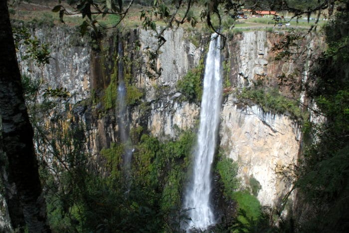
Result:
<svg viewBox="0 0 349 233"><path fill-rule="evenodd" d="M23 20L23 21L33 21L39 25L59 25L61 22L59 21L59 14L58 12L52 12L52 8L57 4L56 1L47 1L41 5L34 4L34 3L27 3L27 2L21 2L18 5L10 6L9 12L10 17L12 19L16 20ZM66 3L62 3L68 10L73 11L73 9ZM142 20L140 18L141 11L147 11L151 7L141 6L139 4L134 4L126 17L123 19L123 28L134 28L142 26ZM190 14L194 16L197 19L197 23L195 28L208 30L206 27L205 22L202 22L200 20L200 13L201 13L202 6L195 5L192 7L192 11L190 11ZM182 8L178 11L178 15L183 15L185 12L185 9ZM234 20L230 17L230 15L222 14L222 29L228 30L232 28L260 28L260 27L272 27L275 25L275 21L272 20L271 17L249 17L248 19L238 19ZM83 18L81 17L81 14L74 14L74 15L64 15L64 22L67 25L70 26L78 26L83 22ZM105 27L113 27L118 21L119 17L117 15L106 15L105 17L102 17L101 15L94 17L94 19L98 20L99 23ZM163 26L165 23L161 19L156 19L153 16L153 19L155 19L155 22L158 26ZM215 17L215 15L211 16L212 24L216 27L218 27L218 19ZM315 20L311 20L310 23L307 22L305 19L300 19L298 23L296 23L295 20L291 21L290 27L309 27L310 25L314 24ZM326 21L320 20L319 25L323 25ZM184 23L181 25L181 27L184 28L191 28L192 26L190 23ZM275 26L277 27L277 26ZM285 26L283 26L284 28Z"/></svg>

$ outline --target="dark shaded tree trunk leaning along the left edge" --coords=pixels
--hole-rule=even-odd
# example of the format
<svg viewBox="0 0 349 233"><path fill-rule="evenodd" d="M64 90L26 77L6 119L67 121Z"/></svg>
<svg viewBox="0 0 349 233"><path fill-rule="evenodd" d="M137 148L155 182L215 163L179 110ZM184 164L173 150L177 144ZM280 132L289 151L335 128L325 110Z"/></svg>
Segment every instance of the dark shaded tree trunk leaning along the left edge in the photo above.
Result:
<svg viewBox="0 0 349 233"><path fill-rule="evenodd" d="M0 0L0 117L2 148L28 230L50 232L6 0Z"/></svg>

